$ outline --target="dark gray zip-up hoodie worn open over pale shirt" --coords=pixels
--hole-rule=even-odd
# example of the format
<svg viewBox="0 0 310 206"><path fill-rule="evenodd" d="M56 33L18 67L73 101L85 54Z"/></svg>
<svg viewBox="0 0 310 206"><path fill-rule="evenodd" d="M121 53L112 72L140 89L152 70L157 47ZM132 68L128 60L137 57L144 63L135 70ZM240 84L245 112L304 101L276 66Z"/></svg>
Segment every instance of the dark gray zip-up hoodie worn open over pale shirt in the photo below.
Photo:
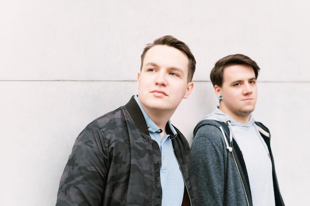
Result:
<svg viewBox="0 0 310 206"><path fill-rule="evenodd" d="M225 124L229 116L214 111L195 127L191 147L201 206L253 206L244 159L231 127ZM274 170L269 130L251 118L250 124L254 123L271 157L276 206L284 206Z"/></svg>

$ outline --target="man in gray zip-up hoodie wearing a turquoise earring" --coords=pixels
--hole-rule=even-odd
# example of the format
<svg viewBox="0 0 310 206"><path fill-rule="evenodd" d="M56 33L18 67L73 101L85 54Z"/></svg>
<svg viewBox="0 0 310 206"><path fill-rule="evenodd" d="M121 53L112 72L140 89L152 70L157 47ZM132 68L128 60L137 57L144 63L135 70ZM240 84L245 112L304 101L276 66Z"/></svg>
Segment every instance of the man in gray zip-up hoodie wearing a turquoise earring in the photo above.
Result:
<svg viewBox="0 0 310 206"><path fill-rule="evenodd" d="M191 147L201 206L284 206L269 130L252 116L258 71L234 54L210 73L219 106L197 124Z"/></svg>

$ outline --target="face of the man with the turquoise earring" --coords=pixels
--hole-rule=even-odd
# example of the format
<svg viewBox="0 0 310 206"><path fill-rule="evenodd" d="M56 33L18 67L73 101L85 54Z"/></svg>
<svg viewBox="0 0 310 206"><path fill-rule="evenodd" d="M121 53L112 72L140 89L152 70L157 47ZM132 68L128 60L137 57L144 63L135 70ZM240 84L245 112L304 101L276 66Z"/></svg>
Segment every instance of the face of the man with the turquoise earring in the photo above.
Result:
<svg viewBox="0 0 310 206"><path fill-rule="evenodd" d="M231 65L224 68L223 84L214 86L217 96L222 94L219 109L238 121L254 111L257 101L257 82L249 65Z"/></svg>

